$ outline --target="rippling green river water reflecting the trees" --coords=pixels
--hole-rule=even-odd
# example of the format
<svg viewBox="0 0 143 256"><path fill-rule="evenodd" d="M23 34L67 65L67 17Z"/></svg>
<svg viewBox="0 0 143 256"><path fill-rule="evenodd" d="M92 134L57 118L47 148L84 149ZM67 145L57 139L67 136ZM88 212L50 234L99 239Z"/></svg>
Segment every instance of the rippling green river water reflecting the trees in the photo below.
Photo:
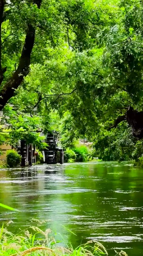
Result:
<svg viewBox="0 0 143 256"><path fill-rule="evenodd" d="M13 220L10 229L49 220L57 237L74 247L98 240L114 255L143 255L143 169L127 163L88 162L0 170L0 221ZM72 234L71 230L76 235Z"/></svg>

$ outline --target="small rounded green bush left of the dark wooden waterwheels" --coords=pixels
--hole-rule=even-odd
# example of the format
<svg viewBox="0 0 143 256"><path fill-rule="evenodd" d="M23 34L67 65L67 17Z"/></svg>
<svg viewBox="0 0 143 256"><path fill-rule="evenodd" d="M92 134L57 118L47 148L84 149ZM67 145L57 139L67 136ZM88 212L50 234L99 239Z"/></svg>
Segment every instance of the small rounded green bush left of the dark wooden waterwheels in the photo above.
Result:
<svg viewBox="0 0 143 256"><path fill-rule="evenodd" d="M14 167L21 163L21 156L14 149L7 151L6 158L9 167Z"/></svg>

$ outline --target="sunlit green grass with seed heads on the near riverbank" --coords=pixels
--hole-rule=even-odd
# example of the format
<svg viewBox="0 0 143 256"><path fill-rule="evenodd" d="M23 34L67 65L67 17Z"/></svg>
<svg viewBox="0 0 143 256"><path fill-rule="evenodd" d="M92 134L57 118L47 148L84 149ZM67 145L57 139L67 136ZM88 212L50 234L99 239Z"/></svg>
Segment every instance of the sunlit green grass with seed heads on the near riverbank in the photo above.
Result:
<svg viewBox="0 0 143 256"><path fill-rule="evenodd" d="M9 225L10 223L8 223ZM41 222L38 222L41 225ZM8 231L8 226L0 229L0 255L1 256L107 256L105 247L96 241L89 241L75 250L68 247L62 247L56 243L51 230L42 231L38 225L31 226L17 235ZM36 238L39 237L42 238ZM127 256L123 251L115 252L118 256Z"/></svg>

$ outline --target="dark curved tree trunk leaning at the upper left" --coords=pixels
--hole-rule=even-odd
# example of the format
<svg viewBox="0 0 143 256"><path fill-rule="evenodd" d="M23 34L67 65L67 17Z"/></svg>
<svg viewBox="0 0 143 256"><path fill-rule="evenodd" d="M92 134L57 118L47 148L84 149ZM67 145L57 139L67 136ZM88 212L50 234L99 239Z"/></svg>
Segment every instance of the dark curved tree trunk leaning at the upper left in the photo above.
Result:
<svg viewBox="0 0 143 256"><path fill-rule="evenodd" d="M3 2L3 1L0 0L0 2ZM42 3L42 0L33 1L33 4L37 4L39 9L41 7L41 3ZM0 8L2 9L2 5L0 5ZM3 13L1 17L3 17ZM2 18L1 18L1 22L2 22ZM11 79L3 86L2 90L0 91L0 110L2 110L5 104L8 102L8 100L13 97L15 90L18 88L19 85L21 85L21 82L24 80L24 77L27 76L29 73L30 57L31 57L32 49L34 47L34 40L35 40L35 28L31 24L28 24L27 32L25 36L25 43L22 49L21 58L19 60L17 70L13 73ZM1 46L1 43L0 43L0 46ZM0 63L1 63L1 47L0 47ZM1 76L1 72L0 72L0 82L2 81L3 81L3 77Z"/></svg>

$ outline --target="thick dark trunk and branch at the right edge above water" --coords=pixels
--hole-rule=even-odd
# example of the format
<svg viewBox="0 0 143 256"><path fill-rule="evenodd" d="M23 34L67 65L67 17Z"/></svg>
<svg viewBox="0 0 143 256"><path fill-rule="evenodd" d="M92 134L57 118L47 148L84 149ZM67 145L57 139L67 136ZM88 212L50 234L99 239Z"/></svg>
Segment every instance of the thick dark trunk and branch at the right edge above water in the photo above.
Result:
<svg viewBox="0 0 143 256"><path fill-rule="evenodd" d="M138 112L137 110L134 110L134 108L130 107L126 111L126 115L118 117L114 125L109 128L116 128L117 125L122 122L127 121L129 126L131 127L132 134L134 137L138 139L143 139L143 111Z"/></svg>

